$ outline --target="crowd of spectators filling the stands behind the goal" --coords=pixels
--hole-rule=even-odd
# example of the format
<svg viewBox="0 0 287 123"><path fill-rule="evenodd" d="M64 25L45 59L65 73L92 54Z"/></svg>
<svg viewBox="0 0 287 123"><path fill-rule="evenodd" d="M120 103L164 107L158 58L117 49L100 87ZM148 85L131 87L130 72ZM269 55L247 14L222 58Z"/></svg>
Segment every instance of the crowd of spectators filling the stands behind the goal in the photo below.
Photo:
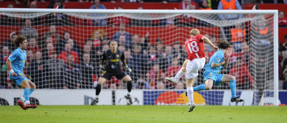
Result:
<svg viewBox="0 0 287 123"><path fill-rule="evenodd" d="M109 0L108 0L109 1ZM41 0L40 2L47 2ZM51 1L47 8L65 9L68 1L55 0ZM100 0L78 2L92 2L90 9L106 9L100 3ZM146 0L115 0L110 2L149 2ZM154 1L153 1L154 2ZM241 10L241 1L238 0L221 0L218 3L211 3L209 0L158 0L157 2L181 2L180 9L237 9ZM16 1L16 4L18 2ZM210 4L218 4L216 8ZM36 1L30 2L30 8L36 8ZM11 7L11 5L10 5ZM117 9L124 9L118 7ZM143 9L139 7L138 9ZM89 14L88 16L106 16L105 14ZM243 15L219 15L221 20L233 20L242 18ZM175 18L161 19L159 23L152 23L150 20L139 20L125 17L113 17L104 19L83 20L83 23L90 26L112 26L119 27L111 37L103 35L99 30L95 30L91 37L86 39L83 47L79 46L77 41L71 38L71 33L65 31L59 34L56 26L73 26L71 17L63 13L51 13L43 17L17 19L6 15L1 17L0 25L23 26L20 30L10 33L9 39L4 41L1 46L0 67L1 67L1 88L16 88L10 82L9 71L5 61L14 49L12 41L17 37L17 33L25 35L28 39L29 46L27 48L27 60L24 72L27 77L32 80L37 88L58 88L58 89L77 89L77 88L93 88L100 75L99 63L103 51L109 49L109 41L115 40L118 43L118 49L122 50L125 55L127 65L132 69L128 74L132 77L133 88L137 89L183 89L185 81L182 79L177 85L173 85L165 80L165 77L173 76L180 68L187 53L183 41L174 41L172 44L165 44L161 37L156 37L155 44L149 41L150 34L146 33L140 37L134 32L127 32L127 26L208 26L208 23L197 20L189 15L180 15ZM88 24L89 23L89 24ZM38 37L38 30L33 26L48 25L49 31ZM85 25L85 24L84 24ZM86 26L85 25L85 26ZM266 76L268 64L264 63L269 60L270 56L263 55L268 52L271 44L268 37L271 34L264 24L255 24L253 27L258 37L248 38L248 30L244 24L236 24L230 27L224 27L227 40L233 44L234 52L230 57L229 67L222 71L225 74L231 74L236 77L238 89L251 89L254 86L260 86L259 80L262 76ZM287 18L283 11L279 12L279 26L287 26ZM267 28L267 30L266 30ZM188 33L188 30L187 30ZM214 35L205 35L211 41L215 41ZM186 37L188 38L188 37ZM252 44L252 45L250 45ZM255 47L252 47L255 46ZM261 54L255 54L250 49L259 49ZM213 51L205 46L205 54L207 57L213 55ZM266 52L264 52L266 51ZM279 78L287 83L287 35L285 35L285 43L279 46ZM259 57L258 57L259 56ZM261 57L262 56L262 57ZM254 59L252 59L254 58ZM251 66L257 65L254 69ZM260 66L260 67L259 67ZM203 71L199 71L198 83L201 84ZM260 75L260 76L255 76ZM182 77L184 78L184 77ZM226 88L222 86L219 88ZM285 85L285 89L287 84ZM103 88L125 88L125 83L121 80L112 79L103 86Z"/></svg>

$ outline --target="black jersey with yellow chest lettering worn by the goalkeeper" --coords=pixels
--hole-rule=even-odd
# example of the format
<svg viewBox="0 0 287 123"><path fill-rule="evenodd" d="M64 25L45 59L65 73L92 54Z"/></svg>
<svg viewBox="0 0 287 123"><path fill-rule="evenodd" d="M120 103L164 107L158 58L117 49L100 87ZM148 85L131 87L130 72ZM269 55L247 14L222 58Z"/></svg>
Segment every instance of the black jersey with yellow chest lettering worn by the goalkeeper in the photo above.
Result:
<svg viewBox="0 0 287 123"><path fill-rule="evenodd" d="M118 71L121 70L121 61L125 60L125 55L119 49L116 53L112 53L111 49L108 49L103 53L102 60L105 61L106 71Z"/></svg>

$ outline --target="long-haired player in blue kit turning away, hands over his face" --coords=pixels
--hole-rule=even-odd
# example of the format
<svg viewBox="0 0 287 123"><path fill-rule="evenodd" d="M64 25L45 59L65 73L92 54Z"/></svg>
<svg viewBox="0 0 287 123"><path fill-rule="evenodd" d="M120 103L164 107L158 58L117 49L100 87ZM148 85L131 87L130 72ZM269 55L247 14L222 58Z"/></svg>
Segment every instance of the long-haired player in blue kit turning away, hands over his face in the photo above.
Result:
<svg viewBox="0 0 287 123"><path fill-rule="evenodd" d="M232 48L227 41L216 40L215 45L219 50L214 53L209 60L209 63L205 65L205 71L203 72L204 83L193 87L193 91L210 90L212 85L222 85L222 83L229 82L229 87L231 90L231 102L243 102L236 96L236 79L232 75L219 74L223 67L228 66L229 57L232 54ZM226 54L226 58L224 55Z"/></svg>

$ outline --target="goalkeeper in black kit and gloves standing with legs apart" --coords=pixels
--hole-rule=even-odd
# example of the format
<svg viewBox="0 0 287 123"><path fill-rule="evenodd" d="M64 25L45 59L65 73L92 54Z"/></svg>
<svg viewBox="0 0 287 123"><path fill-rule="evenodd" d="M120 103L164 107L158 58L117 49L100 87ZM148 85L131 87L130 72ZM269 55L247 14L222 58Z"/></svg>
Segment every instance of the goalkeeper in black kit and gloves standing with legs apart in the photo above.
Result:
<svg viewBox="0 0 287 123"><path fill-rule="evenodd" d="M111 49L106 50L102 55L102 59L100 61L101 75L96 86L96 98L91 105L95 105L99 102L101 86L104 82L110 80L112 76L115 76L117 79L121 79L127 83L128 94L125 97L127 100L129 100L128 104L132 104L132 98L130 97L132 90L132 78L127 73L122 71L120 61L125 66L126 71L132 72L132 69L127 66L123 51L117 49L116 41L110 42L110 48Z"/></svg>

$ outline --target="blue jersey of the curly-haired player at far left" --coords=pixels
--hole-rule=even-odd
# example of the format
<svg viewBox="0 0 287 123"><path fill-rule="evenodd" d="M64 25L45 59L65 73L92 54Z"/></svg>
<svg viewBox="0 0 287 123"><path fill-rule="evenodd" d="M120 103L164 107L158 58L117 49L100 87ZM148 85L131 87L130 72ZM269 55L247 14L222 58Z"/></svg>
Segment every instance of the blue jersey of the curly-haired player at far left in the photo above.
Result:
<svg viewBox="0 0 287 123"><path fill-rule="evenodd" d="M11 55L8 57L7 60L11 62L11 66L14 72L18 73L22 72L25 66L26 59L27 59L26 50L24 50L23 52L22 49L18 47L17 49L12 51Z"/></svg>

